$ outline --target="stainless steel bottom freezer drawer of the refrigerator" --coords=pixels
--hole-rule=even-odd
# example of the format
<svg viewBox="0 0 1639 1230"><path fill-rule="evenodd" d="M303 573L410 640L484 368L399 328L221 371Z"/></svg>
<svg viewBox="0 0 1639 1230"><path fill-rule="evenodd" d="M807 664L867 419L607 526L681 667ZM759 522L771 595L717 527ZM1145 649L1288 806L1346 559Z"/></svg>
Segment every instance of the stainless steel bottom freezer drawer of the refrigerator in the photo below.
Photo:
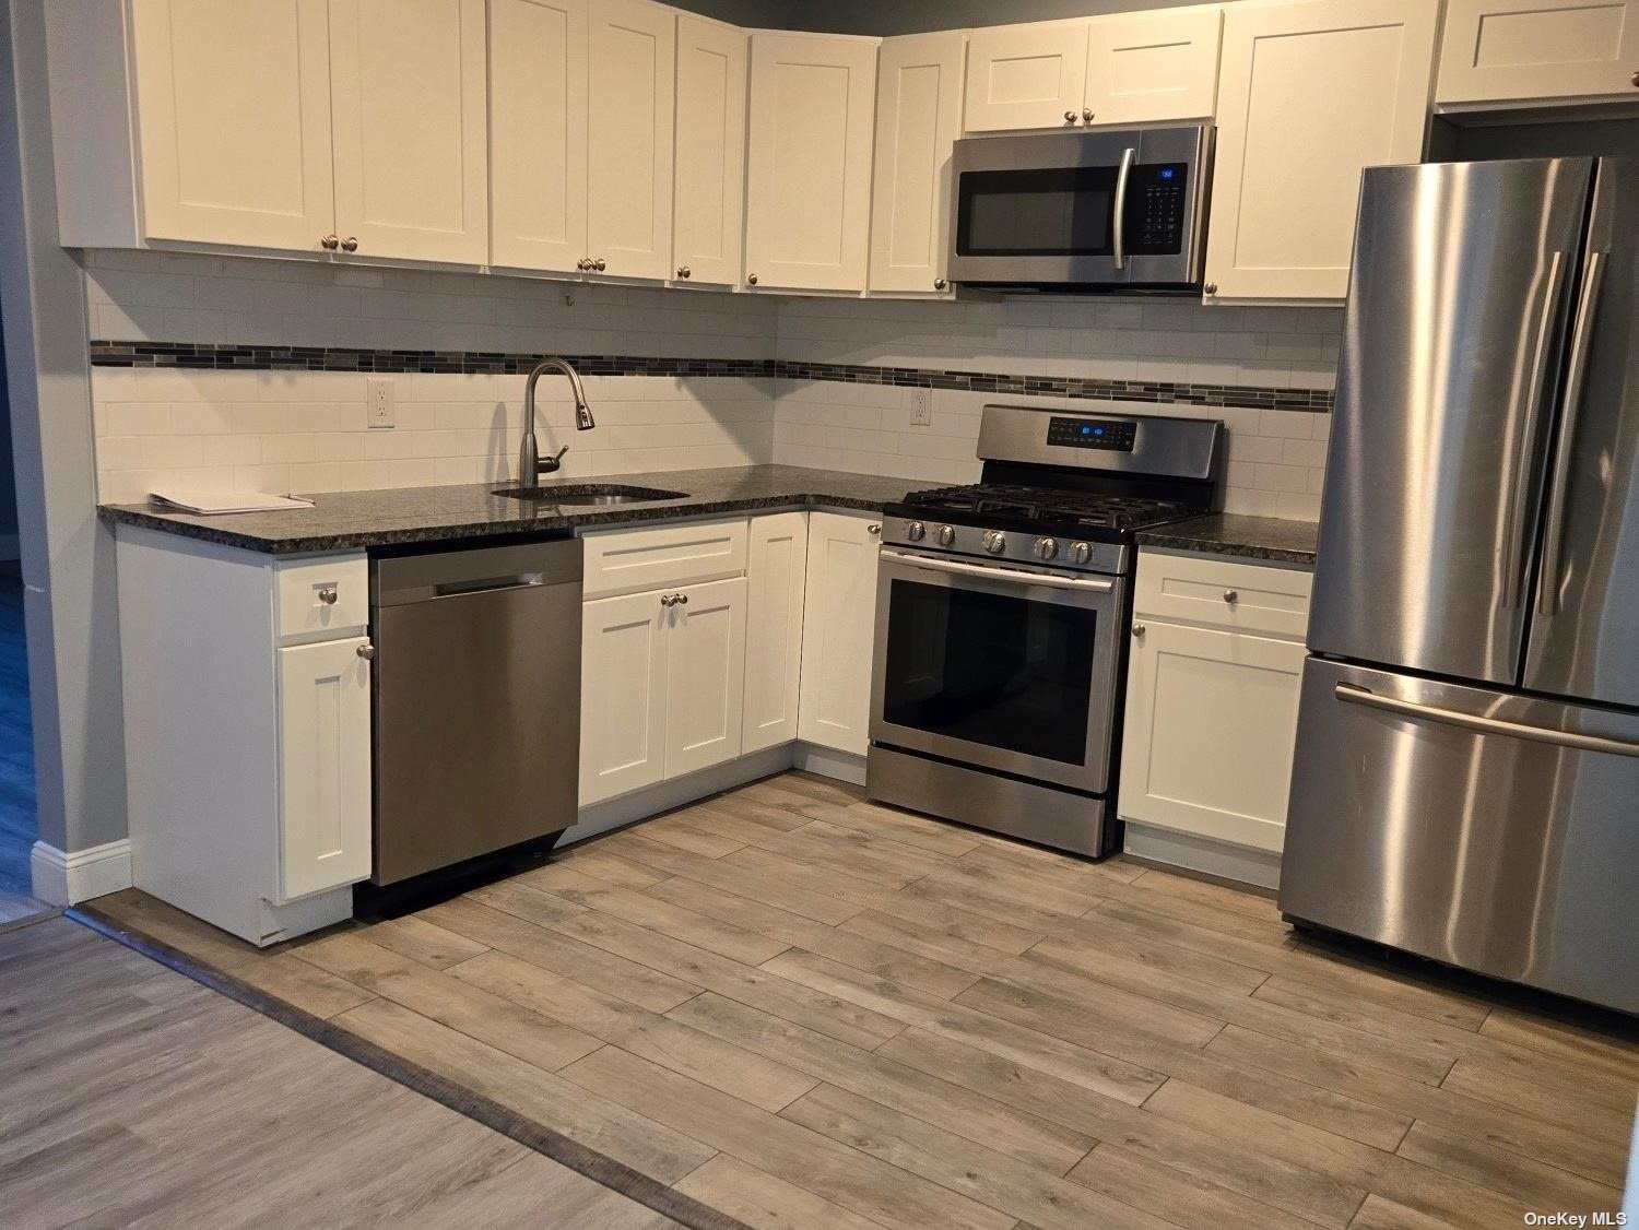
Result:
<svg viewBox="0 0 1639 1230"><path fill-rule="evenodd" d="M1639 1012L1636 865L1639 716L1305 663L1285 914Z"/></svg>

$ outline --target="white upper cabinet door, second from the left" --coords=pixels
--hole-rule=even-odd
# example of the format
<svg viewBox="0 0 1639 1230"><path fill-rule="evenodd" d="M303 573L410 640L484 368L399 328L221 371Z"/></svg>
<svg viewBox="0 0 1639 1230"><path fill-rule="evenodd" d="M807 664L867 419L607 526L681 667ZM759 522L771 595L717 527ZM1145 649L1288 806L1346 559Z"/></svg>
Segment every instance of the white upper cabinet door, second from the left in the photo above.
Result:
<svg viewBox="0 0 1639 1230"><path fill-rule="evenodd" d="M329 43L341 251L482 265L484 0L331 0Z"/></svg>

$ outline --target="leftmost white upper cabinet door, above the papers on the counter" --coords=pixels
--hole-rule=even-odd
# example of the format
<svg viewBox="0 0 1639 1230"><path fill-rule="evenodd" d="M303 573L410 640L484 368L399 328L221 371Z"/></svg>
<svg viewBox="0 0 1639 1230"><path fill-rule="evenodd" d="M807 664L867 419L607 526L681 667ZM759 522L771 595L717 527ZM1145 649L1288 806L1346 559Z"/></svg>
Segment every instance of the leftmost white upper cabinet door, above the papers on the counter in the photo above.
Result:
<svg viewBox="0 0 1639 1230"><path fill-rule="evenodd" d="M325 0L133 0L131 57L144 236L323 251Z"/></svg>

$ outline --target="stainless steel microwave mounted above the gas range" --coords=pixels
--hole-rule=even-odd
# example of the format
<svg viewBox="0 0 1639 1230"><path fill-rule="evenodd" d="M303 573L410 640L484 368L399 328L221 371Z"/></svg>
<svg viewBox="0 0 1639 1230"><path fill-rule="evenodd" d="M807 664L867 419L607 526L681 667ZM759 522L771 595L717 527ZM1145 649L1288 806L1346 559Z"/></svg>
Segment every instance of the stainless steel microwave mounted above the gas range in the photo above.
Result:
<svg viewBox="0 0 1639 1230"><path fill-rule="evenodd" d="M951 280L1200 293L1211 157L1210 124L957 141Z"/></svg>

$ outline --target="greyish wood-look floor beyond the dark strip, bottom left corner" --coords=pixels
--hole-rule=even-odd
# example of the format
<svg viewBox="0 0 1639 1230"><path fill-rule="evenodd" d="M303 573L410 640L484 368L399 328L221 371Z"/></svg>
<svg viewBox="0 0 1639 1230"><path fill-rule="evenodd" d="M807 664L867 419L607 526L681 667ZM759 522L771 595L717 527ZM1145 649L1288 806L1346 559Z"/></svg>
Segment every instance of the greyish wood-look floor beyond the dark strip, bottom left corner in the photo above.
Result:
<svg viewBox="0 0 1639 1230"><path fill-rule="evenodd" d="M0 1225L674 1225L69 919L0 935Z"/></svg>

